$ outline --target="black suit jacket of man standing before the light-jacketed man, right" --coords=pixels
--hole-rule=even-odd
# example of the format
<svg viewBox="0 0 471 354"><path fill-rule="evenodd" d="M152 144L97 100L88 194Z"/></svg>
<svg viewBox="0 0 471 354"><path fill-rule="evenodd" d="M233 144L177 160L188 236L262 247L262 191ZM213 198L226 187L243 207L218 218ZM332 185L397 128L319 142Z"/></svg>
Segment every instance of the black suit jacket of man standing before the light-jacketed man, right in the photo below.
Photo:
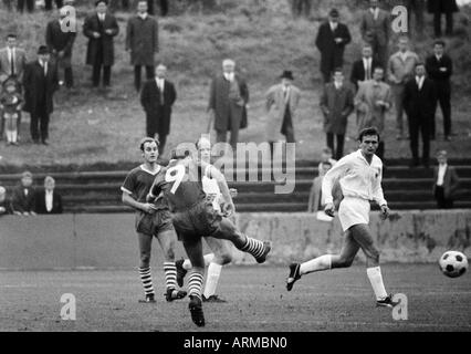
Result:
<svg viewBox="0 0 471 354"><path fill-rule="evenodd" d="M426 77L422 90L419 91L416 77L409 80L404 92L404 107L408 118L410 121L431 119L435 114L436 97L433 81Z"/></svg>

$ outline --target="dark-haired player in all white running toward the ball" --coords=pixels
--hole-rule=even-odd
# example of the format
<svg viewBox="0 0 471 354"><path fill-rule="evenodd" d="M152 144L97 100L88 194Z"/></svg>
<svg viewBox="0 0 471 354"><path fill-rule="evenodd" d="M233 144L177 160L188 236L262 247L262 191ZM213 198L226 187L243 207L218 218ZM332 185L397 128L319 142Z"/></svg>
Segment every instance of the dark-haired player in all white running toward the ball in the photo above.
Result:
<svg viewBox="0 0 471 354"><path fill-rule="evenodd" d="M359 134L359 150L343 157L324 176L322 194L325 196L325 212L334 216L335 206L332 197L334 181L339 178L344 199L338 208L338 218L345 232L344 244L339 254L324 254L305 263L292 263L286 280L291 291L302 275L334 268L352 266L356 253L362 249L366 256L366 273L371 283L378 306L394 308L396 303L388 295L383 283L379 268L379 251L374 244L369 230L369 201L376 201L381 208L381 218L389 215L389 208L383 195L383 163L375 155L379 145L376 128L366 128Z"/></svg>

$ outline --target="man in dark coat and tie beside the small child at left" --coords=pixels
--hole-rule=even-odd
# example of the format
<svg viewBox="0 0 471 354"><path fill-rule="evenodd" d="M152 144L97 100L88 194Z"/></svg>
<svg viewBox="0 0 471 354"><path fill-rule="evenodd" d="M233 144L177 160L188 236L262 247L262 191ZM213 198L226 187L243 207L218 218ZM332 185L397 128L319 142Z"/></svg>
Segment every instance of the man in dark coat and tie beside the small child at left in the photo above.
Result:
<svg viewBox="0 0 471 354"><path fill-rule="evenodd" d="M59 87L57 69L50 63L48 46L41 45L38 60L27 65L23 87L23 110L31 115L31 137L34 144L39 144L41 137L42 144L48 145L49 115L54 111L52 97Z"/></svg>

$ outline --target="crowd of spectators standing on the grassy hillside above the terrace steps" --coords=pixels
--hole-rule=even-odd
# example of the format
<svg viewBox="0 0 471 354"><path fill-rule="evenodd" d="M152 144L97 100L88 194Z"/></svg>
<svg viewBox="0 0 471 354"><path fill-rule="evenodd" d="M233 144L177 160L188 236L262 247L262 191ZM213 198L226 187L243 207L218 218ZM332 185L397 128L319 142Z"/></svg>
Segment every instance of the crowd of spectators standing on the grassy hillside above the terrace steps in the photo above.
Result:
<svg viewBox="0 0 471 354"><path fill-rule="evenodd" d="M12 1L3 1L9 8ZM92 85L107 90L111 84L114 64L114 37L119 29L107 0L94 1L90 13L77 32L64 31L67 27L65 4L73 0L56 0L57 18L52 19L44 34L45 43L39 45L38 58L27 63L25 52L17 45L17 33L7 37L7 46L0 50L0 83L2 110L0 137L7 145L18 145L22 111L30 113L30 134L34 144L48 145L49 116L53 112L53 95L60 86L73 90L72 53L76 35L88 40L86 63L92 65ZM453 34L453 13L459 10L456 0L404 0L415 14L415 30L408 27L405 33L394 33L390 11L381 8L379 0L367 1L368 6L358 19L363 38L362 58L352 71L344 67L344 51L352 42L350 29L342 22L338 10L332 9L315 39L321 53L320 71L324 81L320 107L324 116L326 145L333 157L344 156L344 142L348 118L356 116L358 131L375 126L380 134L385 118L395 112L397 139L410 139L411 167L420 164L429 168L430 140L436 134L436 111L440 105L443 116L443 139L451 140L451 77L453 63L447 55L447 39L442 38L441 17L444 14L446 37ZM399 1L400 2L400 1ZM34 11L35 1L18 1L19 11ZM134 85L140 94L140 103L146 113L146 134L160 140L164 153L170 128L171 107L177 100L175 85L167 80L167 66L155 65L155 54L159 51L159 31L155 1L136 1L136 14L130 15L126 25L126 46L134 66ZM167 14L167 1L159 1L160 14ZM293 13L311 11L310 1L293 0ZM51 10L52 1L44 1L44 9ZM130 7L129 1L114 1L112 8ZM416 53L411 42L423 35L423 10L433 14L436 40L429 53ZM397 45L397 51L391 43ZM171 65L171 63L168 63ZM146 82L142 84L145 69ZM208 131L216 131L217 142L227 142L232 147L239 142L239 131L248 126L249 86L237 73L237 64L227 59L222 72L210 85L208 103ZM62 79L61 79L62 77ZM346 79L347 77L347 79ZM349 79L349 80L348 80ZM273 153L273 145L280 139L295 143L297 107L301 90L294 85L294 74L284 70L280 83L266 92L266 140ZM407 115L407 119L404 115ZM27 140L21 132L22 140ZM422 154L419 154L419 137ZM385 143L381 140L378 155L384 158ZM333 162L329 162L331 164Z"/></svg>

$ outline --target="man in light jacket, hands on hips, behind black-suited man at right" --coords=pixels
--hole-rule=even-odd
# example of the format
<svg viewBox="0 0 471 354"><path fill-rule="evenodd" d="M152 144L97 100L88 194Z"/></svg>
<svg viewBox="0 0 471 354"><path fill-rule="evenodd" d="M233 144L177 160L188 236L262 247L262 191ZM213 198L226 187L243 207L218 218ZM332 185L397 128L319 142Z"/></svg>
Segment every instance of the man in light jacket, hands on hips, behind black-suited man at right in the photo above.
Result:
<svg viewBox="0 0 471 354"><path fill-rule="evenodd" d="M414 77L419 56L409 50L409 39L406 35L399 38L399 51L391 55L388 62L388 80L391 84L396 106L396 128L398 140L407 138L404 133L404 91L408 80ZM410 134L410 132L409 132Z"/></svg>

